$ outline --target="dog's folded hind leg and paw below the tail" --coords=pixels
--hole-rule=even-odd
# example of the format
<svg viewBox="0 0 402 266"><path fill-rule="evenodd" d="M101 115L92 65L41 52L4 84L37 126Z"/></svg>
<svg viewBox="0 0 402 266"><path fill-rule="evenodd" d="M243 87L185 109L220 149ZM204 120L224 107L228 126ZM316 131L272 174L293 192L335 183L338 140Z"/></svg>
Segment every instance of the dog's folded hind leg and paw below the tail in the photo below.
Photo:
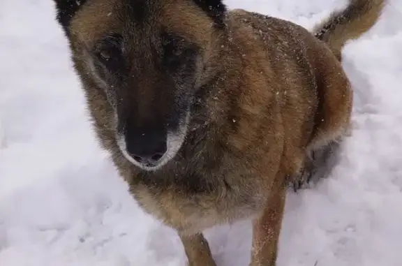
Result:
<svg viewBox="0 0 402 266"><path fill-rule="evenodd" d="M323 61L323 60L322 60ZM315 62L318 108L311 140L305 148L304 167L297 177L291 177L297 190L310 181L327 177L339 159L341 143L350 131L353 94L348 77L336 67Z"/></svg>

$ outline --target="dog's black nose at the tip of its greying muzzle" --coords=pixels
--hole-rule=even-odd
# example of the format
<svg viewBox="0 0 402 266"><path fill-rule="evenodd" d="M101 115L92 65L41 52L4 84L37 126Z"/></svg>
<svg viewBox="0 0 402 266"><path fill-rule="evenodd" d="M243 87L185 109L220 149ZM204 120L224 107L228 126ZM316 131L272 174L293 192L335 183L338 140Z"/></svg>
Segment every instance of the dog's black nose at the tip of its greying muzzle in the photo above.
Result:
<svg viewBox="0 0 402 266"><path fill-rule="evenodd" d="M164 130L149 128L127 128L126 149L135 161L155 165L167 150Z"/></svg>

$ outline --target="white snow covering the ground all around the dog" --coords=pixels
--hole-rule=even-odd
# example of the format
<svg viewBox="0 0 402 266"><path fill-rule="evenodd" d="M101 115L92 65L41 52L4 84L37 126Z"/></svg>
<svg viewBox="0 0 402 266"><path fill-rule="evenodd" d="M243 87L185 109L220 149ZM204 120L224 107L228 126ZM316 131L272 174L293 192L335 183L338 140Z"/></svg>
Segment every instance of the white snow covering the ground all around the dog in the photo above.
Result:
<svg viewBox="0 0 402 266"><path fill-rule="evenodd" d="M231 0L312 27L337 0ZM353 135L317 187L289 193L278 266L402 260L402 0L346 45ZM0 1L0 265L184 266L98 146L49 0ZM218 266L248 265L251 223L206 232Z"/></svg>

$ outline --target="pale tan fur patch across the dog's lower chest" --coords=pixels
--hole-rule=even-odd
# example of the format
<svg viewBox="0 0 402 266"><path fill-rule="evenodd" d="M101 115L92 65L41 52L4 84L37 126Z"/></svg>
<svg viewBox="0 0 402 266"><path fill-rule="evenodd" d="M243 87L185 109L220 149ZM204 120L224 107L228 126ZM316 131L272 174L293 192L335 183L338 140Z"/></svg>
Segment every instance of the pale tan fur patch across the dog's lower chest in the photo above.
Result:
<svg viewBox="0 0 402 266"><path fill-rule="evenodd" d="M144 211L156 219L192 234L218 224L249 219L260 212L269 191L258 182L239 181L217 182L209 191L195 192L174 183L142 183L133 188L133 195Z"/></svg>

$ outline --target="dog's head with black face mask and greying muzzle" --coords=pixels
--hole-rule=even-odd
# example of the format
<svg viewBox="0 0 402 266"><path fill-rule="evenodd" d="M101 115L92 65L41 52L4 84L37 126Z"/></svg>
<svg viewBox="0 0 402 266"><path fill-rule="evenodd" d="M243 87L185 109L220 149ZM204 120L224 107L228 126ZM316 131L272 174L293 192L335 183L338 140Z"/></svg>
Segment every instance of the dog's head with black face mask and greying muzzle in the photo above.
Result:
<svg viewBox="0 0 402 266"><path fill-rule="evenodd" d="M144 170L161 168L186 138L195 91L225 29L225 6L221 0L55 2L87 96L103 97L112 112L119 149Z"/></svg>

